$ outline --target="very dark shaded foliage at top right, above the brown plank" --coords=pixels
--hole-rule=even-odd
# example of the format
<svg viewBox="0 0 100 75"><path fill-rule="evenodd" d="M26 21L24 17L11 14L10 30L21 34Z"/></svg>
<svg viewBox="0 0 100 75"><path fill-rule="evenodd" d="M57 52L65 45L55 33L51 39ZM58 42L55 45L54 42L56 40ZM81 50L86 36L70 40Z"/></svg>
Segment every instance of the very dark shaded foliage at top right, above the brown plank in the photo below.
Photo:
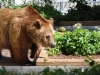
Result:
<svg viewBox="0 0 100 75"><path fill-rule="evenodd" d="M93 5L93 7L87 5L86 0L69 0L71 2L76 2L75 8L71 7L68 13L64 15L64 20L68 21L90 21L90 20L100 20L98 17L100 14L100 6ZM94 0L95 1L95 0Z"/></svg>

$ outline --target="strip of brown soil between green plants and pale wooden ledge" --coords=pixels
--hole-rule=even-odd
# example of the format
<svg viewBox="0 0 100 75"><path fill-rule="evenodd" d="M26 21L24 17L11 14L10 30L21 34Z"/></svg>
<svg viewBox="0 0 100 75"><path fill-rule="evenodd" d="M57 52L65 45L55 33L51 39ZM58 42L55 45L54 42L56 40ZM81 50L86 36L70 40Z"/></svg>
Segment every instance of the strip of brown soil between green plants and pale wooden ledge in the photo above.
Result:
<svg viewBox="0 0 100 75"><path fill-rule="evenodd" d="M92 59L100 59L100 55L89 55ZM88 56L75 56L75 55L54 55L49 56L51 59L86 59Z"/></svg>

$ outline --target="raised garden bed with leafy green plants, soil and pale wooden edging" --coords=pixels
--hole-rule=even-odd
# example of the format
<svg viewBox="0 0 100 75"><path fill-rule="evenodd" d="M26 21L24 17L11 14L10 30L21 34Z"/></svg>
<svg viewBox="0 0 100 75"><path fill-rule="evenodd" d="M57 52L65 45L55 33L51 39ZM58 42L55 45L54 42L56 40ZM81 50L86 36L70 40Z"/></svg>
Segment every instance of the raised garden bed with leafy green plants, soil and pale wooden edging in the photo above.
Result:
<svg viewBox="0 0 100 75"><path fill-rule="evenodd" d="M42 50L37 59L37 66L88 66L92 61L100 63L99 29L90 31L75 28L63 34L56 31L54 39L56 47ZM86 59L89 61L86 62Z"/></svg>

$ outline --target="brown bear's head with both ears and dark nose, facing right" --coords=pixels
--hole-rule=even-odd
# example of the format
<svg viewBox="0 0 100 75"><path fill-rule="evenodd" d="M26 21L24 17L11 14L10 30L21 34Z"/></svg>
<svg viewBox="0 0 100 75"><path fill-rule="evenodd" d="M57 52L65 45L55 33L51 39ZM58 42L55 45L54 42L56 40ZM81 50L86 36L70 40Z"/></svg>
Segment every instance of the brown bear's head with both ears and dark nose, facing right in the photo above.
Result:
<svg viewBox="0 0 100 75"><path fill-rule="evenodd" d="M39 43L44 47L55 47L54 42L54 29L53 19L36 19L35 21L28 22L27 24L27 35L34 43Z"/></svg>

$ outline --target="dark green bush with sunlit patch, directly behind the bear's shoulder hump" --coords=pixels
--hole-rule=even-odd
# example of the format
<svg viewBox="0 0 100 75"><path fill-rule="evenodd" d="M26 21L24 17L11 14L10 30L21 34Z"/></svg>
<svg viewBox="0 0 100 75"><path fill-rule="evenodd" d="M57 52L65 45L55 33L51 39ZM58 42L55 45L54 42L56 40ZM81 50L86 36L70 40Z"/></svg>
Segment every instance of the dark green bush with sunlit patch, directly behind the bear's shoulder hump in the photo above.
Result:
<svg viewBox="0 0 100 75"><path fill-rule="evenodd" d="M55 20L55 23L59 22L61 20L62 13L55 9L52 5L45 5L45 6L33 6L41 16L45 17L46 19L53 18Z"/></svg>

